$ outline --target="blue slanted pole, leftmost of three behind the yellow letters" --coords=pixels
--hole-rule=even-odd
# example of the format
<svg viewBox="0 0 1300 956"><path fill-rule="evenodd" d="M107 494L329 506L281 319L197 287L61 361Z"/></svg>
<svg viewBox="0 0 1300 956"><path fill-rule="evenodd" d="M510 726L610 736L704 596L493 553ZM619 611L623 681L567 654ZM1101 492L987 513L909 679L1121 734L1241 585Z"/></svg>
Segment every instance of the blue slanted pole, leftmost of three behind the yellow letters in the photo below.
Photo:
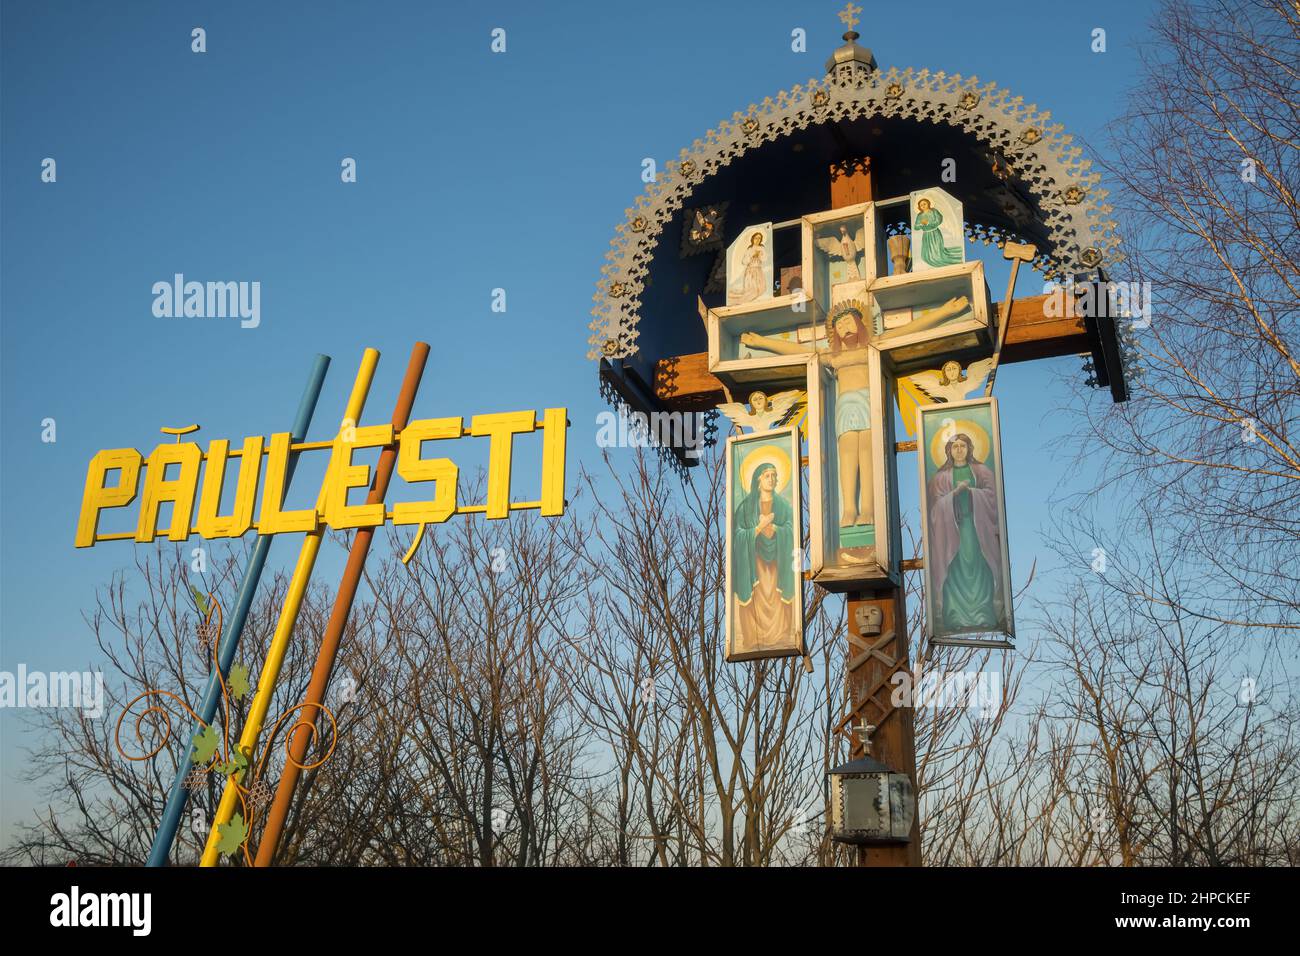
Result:
<svg viewBox="0 0 1300 956"><path fill-rule="evenodd" d="M307 429L312 424L312 415L316 411L316 399L320 398L321 386L325 384L325 372L329 369L329 356L317 355L312 362L312 371L307 378L307 388L303 390L302 402L298 405L298 416L294 419L292 441L300 442L307 436ZM298 455L290 455L285 468L285 485L294 476L294 466ZM260 463L259 463L260 467ZM204 724L212 723L217 715L217 705L221 702L221 682L230 674L230 665L234 663L235 650L239 649L239 635L243 632L244 622L248 619L248 609L252 607L252 598L257 593L257 581L261 580L261 570L266 566L266 555L270 553L272 535L259 535L252 549L252 558L244 568L243 581L239 584L239 594L235 597L234 613L226 619L226 631L221 635L221 644L217 646L217 671L208 678L208 689L203 695L199 705L199 717ZM183 754L181 766L177 767L176 779L172 780L172 791L168 793L166 806L162 810L162 821L159 831L153 836L153 848L150 851L150 866L166 866L168 855L176 842L176 831L181 826L181 817L185 814L185 804L188 792L185 788L185 778L190 773L190 756L194 750L194 737L203 731L203 724L195 723L190 736L183 740Z"/></svg>

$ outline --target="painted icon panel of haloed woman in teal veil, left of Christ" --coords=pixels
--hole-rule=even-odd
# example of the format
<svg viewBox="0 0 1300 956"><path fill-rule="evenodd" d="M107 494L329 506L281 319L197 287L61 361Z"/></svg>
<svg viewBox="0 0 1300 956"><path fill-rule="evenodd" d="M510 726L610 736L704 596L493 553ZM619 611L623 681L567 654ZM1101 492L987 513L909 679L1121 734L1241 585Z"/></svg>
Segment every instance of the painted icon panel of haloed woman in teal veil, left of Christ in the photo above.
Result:
<svg viewBox="0 0 1300 956"><path fill-rule="evenodd" d="M727 659L803 654L800 432L727 441Z"/></svg>

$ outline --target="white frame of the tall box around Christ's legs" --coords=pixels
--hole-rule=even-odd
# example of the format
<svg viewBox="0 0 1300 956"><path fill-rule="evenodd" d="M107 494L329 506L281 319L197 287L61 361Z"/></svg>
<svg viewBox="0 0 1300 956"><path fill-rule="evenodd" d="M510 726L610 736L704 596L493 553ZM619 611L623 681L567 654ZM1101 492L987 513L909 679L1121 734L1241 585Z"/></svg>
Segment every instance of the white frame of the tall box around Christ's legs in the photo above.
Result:
<svg viewBox="0 0 1300 956"><path fill-rule="evenodd" d="M835 421L826 415L828 395L835 388L833 371L824 362L809 364L809 551L812 580L827 591L855 591L859 588L897 585L900 531L894 480L893 408L888 407L892 395L885 392L885 373L880 350L868 347L870 389L871 389L871 460L872 502L876 519L876 562L875 564L841 564L838 562L838 524L835 507L831 519L836 520L833 531L827 528L827 507L831 498L829 485L837 483L838 470L833 466L838 454L835 437ZM888 414L885 411L888 410ZM875 428L875 423L881 423ZM827 446L831 450L827 450ZM820 481L818 480L820 476Z"/></svg>

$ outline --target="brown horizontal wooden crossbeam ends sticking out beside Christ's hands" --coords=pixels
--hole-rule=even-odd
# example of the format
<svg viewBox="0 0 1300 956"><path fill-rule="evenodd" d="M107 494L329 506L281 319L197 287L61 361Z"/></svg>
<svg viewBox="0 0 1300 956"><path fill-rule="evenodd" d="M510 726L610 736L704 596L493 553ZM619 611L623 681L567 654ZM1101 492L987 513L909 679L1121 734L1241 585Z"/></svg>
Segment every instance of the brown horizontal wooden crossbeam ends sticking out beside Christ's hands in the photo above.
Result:
<svg viewBox="0 0 1300 956"><path fill-rule="evenodd" d="M1044 313L1049 297L1035 295L1011 304L1011 321L1006 329L1002 364L1030 362L1057 355L1075 355L1092 350L1083 319L1078 315L1058 317ZM993 308L1001 320L1002 303ZM655 365L655 397L664 407L676 411L705 411L725 402L723 384L708 373L708 354L676 355ZM745 401L742 395L733 395Z"/></svg>

